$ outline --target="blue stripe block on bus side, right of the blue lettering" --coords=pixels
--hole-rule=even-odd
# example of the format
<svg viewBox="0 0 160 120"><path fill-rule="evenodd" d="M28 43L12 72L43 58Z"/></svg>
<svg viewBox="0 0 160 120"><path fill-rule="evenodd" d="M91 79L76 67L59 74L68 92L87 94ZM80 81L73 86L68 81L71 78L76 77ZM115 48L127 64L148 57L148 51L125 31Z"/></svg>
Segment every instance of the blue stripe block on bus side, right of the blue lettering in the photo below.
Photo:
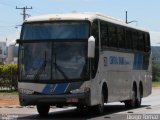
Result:
<svg viewBox="0 0 160 120"><path fill-rule="evenodd" d="M143 54L135 53L134 62L133 62L133 70L141 70L142 67L143 67Z"/></svg>

